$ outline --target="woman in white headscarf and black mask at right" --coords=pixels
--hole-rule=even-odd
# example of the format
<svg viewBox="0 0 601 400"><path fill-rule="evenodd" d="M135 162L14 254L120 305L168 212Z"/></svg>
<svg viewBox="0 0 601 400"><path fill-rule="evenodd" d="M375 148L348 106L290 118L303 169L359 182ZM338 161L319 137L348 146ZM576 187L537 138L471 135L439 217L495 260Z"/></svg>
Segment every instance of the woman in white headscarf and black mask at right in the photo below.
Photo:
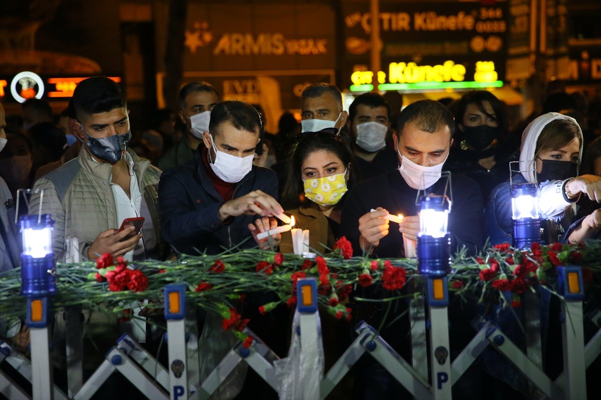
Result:
<svg viewBox="0 0 601 400"><path fill-rule="evenodd" d="M569 237L564 237L573 222L575 203L582 194L601 202L601 178L578 176L581 160L582 131L576 120L569 116L546 113L532 121L522 134L522 172L513 177L513 183L540 184L538 207L545 242L578 242L601 228L601 214L594 213L583 219L578 228L572 227ZM525 168L528 164L530 170ZM498 185L490 194L484 210L484 224L484 234L489 236L492 245L511 242L513 222L509 182Z"/></svg>

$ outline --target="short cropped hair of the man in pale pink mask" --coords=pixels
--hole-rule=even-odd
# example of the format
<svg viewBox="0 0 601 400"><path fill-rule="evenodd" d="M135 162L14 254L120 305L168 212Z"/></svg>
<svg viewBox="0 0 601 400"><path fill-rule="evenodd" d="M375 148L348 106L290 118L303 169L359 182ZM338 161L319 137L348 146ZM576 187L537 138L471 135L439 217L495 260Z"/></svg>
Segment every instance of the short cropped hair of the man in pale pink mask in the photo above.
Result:
<svg viewBox="0 0 601 400"><path fill-rule="evenodd" d="M405 124L415 124L424 132L435 133L448 127L453 136L455 119L453 114L436 100L418 100L409 104L398 115L397 134L403 134Z"/></svg>

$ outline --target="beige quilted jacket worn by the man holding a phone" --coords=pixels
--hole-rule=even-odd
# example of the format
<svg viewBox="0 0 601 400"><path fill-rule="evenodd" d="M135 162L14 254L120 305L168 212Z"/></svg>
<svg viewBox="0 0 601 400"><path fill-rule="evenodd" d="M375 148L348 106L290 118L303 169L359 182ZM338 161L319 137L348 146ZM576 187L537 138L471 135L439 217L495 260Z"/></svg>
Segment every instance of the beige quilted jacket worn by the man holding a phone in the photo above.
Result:
<svg viewBox="0 0 601 400"><path fill-rule="evenodd" d="M145 241L156 243L148 258L163 257L163 243L160 240L158 213L158 193L160 170L141 160L133 151L127 151L133 159L133 170L138 178L142 193L141 214L144 224L152 224L154 237ZM40 201L41 213L49 213L55 221L52 233L52 250L57 261L66 258L67 237L77 237L82 260L87 260L88 248L98 234L109 228L119 228L117 209L111 190L111 164L96 163L85 148L77 158L63 164L34 185L29 204L29 213L37 213ZM36 190L44 191L43 198Z"/></svg>

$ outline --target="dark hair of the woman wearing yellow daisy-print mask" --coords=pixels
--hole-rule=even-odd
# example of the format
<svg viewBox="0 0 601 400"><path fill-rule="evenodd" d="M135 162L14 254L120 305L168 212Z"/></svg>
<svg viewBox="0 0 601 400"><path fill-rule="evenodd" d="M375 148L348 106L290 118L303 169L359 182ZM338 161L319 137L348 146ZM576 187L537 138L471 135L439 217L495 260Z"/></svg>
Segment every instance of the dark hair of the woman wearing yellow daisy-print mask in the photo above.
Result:
<svg viewBox="0 0 601 400"><path fill-rule="evenodd" d="M340 134L324 131L301 133L296 137L287 163L286 176L288 179L282 192L282 203L287 209L296 208L302 203L304 197L301 195L305 193L301 178L302 163L311 153L316 151L327 151L335 154L345 167L349 163L355 166L350 169L347 187L350 189L353 182L356 181L358 169L354 163L355 158Z"/></svg>

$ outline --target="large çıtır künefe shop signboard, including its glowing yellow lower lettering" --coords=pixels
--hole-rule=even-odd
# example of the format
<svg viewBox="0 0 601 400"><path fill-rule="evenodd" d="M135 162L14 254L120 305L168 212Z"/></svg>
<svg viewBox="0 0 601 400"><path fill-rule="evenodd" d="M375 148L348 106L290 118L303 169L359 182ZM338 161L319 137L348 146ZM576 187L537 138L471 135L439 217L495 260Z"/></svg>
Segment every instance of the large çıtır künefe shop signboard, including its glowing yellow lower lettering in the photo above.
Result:
<svg viewBox="0 0 601 400"><path fill-rule="evenodd" d="M343 14L345 86L356 85L353 73L369 70L369 4L343 2ZM505 1L485 7L480 2L382 0L383 71L374 74L377 83L478 82L474 76L481 81L493 77L502 81L509 29L506 19Z"/></svg>

